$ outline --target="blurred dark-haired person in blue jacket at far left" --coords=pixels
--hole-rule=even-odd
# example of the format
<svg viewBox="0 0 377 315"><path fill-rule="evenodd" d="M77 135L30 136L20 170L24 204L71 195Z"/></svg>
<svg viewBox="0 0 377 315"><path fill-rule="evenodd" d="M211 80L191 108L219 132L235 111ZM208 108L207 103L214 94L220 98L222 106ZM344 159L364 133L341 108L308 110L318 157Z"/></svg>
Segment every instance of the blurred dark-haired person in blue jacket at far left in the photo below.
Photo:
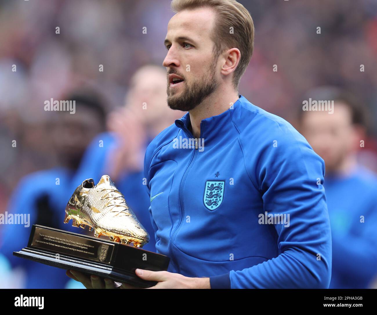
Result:
<svg viewBox="0 0 377 315"><path fill-rule="evenodd" d="M27 222L3 224L0 230L0 254L3 260L8 259L12 269L24 269L25 278L17 281L23 282L22 287L26 289L58 289L67 283L63 269L21 259L12 253L27 246L33 224L77 232L74 227L63 223L64 209L72 195L70 183L86 145L106 127L103 99L94 91L72 91L62 99L75 100L75 113L51 112L51 154L56 154L58 165L28 174L20 180L9 199L6 214L23 214Z"/></svg>

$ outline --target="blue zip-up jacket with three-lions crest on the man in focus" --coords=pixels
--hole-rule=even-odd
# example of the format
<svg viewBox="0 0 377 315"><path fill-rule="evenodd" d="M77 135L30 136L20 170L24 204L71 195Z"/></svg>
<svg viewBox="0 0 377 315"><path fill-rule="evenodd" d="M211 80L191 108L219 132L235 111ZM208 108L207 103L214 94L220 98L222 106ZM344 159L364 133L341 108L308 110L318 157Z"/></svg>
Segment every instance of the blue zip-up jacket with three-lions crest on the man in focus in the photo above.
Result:
<svg viewBox="0 0 377 315"><path fill-rule="evenodd" d="M168 271L210 277L211 288L328 288L325 164L305 138L243 96L201 121L196 146L189 125L186 113L144 159Z"/></svg>

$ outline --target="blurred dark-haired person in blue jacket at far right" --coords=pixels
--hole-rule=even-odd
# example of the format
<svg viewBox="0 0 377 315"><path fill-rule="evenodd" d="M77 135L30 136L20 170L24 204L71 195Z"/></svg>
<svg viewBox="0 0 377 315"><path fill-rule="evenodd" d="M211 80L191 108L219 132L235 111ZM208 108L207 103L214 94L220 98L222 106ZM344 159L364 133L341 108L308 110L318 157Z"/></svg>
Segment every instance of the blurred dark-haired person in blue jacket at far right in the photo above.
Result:
<svg viewBox="0 0 377 315"><path fill-rule="evenodd" d="M366 139L365 110L334 87L313 89L304 102L309 98L333 100L329 110L299 111L300 131L326 165L333 244L329 288L367 288L377 275L377 176L357 160Z"/></svg>

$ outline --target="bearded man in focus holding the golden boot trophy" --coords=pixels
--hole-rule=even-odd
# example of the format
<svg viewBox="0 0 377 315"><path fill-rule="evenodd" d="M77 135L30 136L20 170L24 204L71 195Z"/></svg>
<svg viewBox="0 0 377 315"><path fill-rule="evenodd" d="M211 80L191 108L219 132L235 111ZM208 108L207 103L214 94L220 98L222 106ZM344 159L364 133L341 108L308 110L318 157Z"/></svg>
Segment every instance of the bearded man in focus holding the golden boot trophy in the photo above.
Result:
<svg viewBox="0 0 377 315"><path fill-rule="evenodd" d="M249 12L233 0L173 0L172 9L167 100L189 113L144 159L156 249L171 260L167 272L136 275L158 281L152 288L327 288L324 162L288 122L238 94L253 52Z"/></svg>

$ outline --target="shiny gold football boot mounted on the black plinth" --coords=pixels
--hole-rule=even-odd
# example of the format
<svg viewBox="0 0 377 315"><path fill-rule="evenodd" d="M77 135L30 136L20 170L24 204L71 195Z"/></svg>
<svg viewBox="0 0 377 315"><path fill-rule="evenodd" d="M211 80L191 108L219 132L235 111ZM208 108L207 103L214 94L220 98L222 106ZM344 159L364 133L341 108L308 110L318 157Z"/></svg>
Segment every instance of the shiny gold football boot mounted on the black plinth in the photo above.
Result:
<svg viewBox="0 0 377 315"><path fill-rule="evenodd" d="M89 231L94 229L97 237L109 236L112 241L140 248L149 242L148 232L108 175L103 175L97 185L90 178L76 188L66 206L64 223L70 219L72 226L85 229L89 225Z"/></svg>

